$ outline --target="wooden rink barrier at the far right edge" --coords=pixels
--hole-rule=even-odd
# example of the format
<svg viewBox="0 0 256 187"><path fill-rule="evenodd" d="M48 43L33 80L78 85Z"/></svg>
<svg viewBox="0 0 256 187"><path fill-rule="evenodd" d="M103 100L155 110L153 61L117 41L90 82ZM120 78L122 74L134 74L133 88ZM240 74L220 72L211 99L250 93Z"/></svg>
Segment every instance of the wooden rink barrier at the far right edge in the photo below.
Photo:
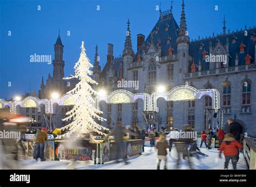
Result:
<svg viewBox="0 0 256 187"><path fill-rule="evenodd" d="M243 152L249 169L256 169L256 139L245 138L243 143Z"/></svg>

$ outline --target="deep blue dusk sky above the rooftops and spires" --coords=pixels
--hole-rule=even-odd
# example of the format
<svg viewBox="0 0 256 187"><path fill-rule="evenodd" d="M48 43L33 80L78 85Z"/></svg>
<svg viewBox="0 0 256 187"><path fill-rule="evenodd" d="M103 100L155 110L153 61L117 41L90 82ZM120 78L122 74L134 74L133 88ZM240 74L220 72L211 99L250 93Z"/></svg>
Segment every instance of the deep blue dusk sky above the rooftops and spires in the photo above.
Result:
<svg viewBox="0 0 256 187"><path fill-rule="evenodd" d="M130 19L133 50L137 34L146 37L159 18L156 6L170 9L171 1L161 0L0 0L0 98L10 99L33 89L38 93L41 78L51 73L47 63L31 63L30 55L52 55L58 36L64 45L65 76L73 74L81 41L93 63L98 45L100 66L106 63L107 44L114 45L114 56L122 54L127 19ZM255 25L255 0L185 0L187 28L191 39L222 32L226 27L240 30ZM181 0L173 2L173 16L179 24ZM38 11L38 5L41 10ZM218 11L214 6L218 5ZM99 6L100 10L97 10ZM11 31L11 36L8 32ZM67 32L71 35L68 36ZM8 83L11 87L8 87Z"/></svg>

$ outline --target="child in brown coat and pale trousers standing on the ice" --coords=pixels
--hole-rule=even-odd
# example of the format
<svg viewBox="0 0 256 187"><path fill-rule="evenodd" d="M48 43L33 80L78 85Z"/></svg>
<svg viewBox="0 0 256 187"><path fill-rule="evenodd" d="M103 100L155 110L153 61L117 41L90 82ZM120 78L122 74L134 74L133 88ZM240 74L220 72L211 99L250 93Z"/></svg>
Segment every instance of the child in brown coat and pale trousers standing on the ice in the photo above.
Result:
<svg viewBox="0 0 256 187"><path fill-rule="evenodd" d="M161 160L164 160L164 169L167 169L167 151L166 149L169 148L169 145L166 141L166 134L161 134L158 141L157 141L157 145L156 145L156 149L157 151L157 159L158 159L158 163L157 163L157 169L160 169L160 163Z"/></svg>

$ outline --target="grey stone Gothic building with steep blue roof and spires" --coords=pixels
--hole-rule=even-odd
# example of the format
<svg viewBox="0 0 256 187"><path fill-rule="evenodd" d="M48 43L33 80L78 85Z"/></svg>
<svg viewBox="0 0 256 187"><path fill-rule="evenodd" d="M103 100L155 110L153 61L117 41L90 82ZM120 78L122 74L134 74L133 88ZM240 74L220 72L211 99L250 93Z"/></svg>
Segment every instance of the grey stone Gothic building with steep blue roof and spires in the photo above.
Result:
<svg viewBox="0 0 256 187"><path fill-rule="evenodd" d="M147 38L137 35L137 52L133 51L130 21L122 56L113 56L113 45L108 44L107 61L103 69L98 63L96 47L93 76L99 85L95 89L105 89L111 93L117 89L133 93L157 91L158 85L164 85L166 91L186 82L196 89L217 89L220 92L218 115L223 119L207 116L212 99L205 96L190 102L166 102L157 100L159 111L154 114L157 128L181 128L190 124L196 131L205 130L206 121L212 126L226 125L228 118L235 118L247 128L248 134L256 135L256 27L246 27L240 31L226 31L225 18L223 32L198 40L190 40L187 32L185 4L181 9L179 24L168 11L160 11L160 17ZM226 56L226 62L208 62L207 57ZM118 88L118 81L139 81L138 90ZM143 100L130 104L100 103L103 117L102 125L111 127L122 122L123 125L146 127L143 113ZM210 115L210 113L208 113ZM207 119L206 119L207 118ZM220 121L221 120L221 121Z"/></svg>

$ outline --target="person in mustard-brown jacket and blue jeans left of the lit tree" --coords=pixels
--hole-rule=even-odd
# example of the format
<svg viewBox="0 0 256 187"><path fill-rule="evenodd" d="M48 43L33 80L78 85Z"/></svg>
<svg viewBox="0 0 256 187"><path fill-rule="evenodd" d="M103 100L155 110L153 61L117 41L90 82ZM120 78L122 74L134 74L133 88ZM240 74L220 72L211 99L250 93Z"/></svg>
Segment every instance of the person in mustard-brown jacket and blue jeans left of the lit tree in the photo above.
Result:
<svg viewBox="0 0 256 187"><path fill-rule="evenodd" d="M36 155L35 159L37 160L38 158L41 159L41 161L45 161L44 159L44 143L47 141L47 133L46 133L46 128L43 127L41 128L41 131L37 133L36 136Z"/></svg>

